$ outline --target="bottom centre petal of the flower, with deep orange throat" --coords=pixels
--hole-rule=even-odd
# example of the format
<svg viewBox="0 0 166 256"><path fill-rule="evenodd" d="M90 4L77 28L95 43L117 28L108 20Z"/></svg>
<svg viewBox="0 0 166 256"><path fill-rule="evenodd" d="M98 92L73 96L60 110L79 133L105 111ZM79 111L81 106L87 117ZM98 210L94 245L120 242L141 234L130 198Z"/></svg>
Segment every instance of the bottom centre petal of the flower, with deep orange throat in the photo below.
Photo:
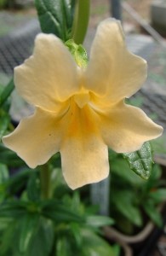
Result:
<svg viewBox="0 0 166 256"><path fill-rule="evenodd" d="M95 113L88 107L76 107L72 113L60 154L66 183L77 189L106 178L109 162L108 148L95 126Z"/></svg>

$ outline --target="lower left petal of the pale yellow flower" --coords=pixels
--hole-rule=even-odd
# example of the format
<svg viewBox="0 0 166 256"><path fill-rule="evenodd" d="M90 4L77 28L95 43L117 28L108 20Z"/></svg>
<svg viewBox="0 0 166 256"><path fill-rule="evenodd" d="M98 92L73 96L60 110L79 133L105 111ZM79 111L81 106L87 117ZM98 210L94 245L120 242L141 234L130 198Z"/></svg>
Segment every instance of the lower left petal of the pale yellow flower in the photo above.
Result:
<svg viewBox="0 0 166 256"><path fill-rule="evenodd" d="M38 108L34 115L22 119L14 132L3 137L3 143L35 168L59 151L62 132L59 119Z"/></svg>

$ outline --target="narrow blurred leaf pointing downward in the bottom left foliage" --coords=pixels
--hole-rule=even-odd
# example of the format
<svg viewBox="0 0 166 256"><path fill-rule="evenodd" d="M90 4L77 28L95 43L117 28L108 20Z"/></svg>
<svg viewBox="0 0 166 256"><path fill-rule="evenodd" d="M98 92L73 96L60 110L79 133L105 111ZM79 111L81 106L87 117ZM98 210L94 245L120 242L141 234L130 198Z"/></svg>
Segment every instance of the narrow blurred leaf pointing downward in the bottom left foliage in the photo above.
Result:
<svg viewBox="0 0 166 256"><path fill-rule="evenodd" d="M20 253L26 253L31 240L36 235L40 216L37 213L27 213L20 221Z"/></svg>

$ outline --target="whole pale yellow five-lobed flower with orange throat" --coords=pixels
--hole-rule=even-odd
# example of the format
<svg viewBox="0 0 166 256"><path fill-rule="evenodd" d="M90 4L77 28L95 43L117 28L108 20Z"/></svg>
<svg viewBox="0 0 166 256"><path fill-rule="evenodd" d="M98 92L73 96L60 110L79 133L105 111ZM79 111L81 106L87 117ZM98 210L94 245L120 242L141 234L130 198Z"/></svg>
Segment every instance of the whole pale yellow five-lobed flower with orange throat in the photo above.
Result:
<svg viewBox="0 0 166 256"><path fill-rule="evenodd" d="M59 38L39 34L33 55L14 69L15 87L35 113L3 143L31 168L60 151L72 188L95 183L109 172L108 148L131 152L162 134L139 108L125 104L146 79L146 61L129 53L116 20L104 20L89 65L77 67Z"/></svg>

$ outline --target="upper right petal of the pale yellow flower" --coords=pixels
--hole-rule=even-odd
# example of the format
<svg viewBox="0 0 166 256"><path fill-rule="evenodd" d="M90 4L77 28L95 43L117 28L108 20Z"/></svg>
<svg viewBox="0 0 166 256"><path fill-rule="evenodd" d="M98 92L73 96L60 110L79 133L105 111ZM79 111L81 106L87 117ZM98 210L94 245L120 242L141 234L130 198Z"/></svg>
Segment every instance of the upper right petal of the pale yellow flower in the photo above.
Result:
<svg viewBox="0 0 166 256"><path fill-rule="evenodd" d="M100 23L85 78L87 89L111 103L133 95L145 81L146 61L128 51L119 21Z"/></svg>

